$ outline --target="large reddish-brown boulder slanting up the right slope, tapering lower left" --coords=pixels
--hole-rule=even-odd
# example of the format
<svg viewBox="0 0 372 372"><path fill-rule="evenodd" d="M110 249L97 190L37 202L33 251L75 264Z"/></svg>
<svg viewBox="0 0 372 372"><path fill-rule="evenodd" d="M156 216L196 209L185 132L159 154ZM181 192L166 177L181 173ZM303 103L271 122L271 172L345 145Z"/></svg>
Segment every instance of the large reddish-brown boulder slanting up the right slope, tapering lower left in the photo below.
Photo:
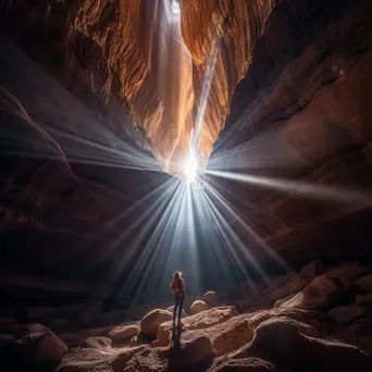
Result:
<svg viewBox="0 0 372 372"><path fill-rule="evenodd" d="M331 274L315 277L300 293L283 301L281 308L321 310L330 308L350 288L348 280Z"/></svg>

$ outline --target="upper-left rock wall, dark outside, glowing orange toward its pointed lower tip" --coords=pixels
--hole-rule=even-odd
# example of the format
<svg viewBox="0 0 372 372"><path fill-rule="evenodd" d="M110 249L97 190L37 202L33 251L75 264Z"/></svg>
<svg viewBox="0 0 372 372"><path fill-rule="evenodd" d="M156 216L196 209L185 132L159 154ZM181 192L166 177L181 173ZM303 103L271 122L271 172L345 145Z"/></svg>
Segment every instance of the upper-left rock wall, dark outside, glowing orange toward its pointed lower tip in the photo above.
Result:
<svg viewBox="0 0 372 372"><path fill-rule="evenodd" d="M3 34L178 172L193 134L191 61L171 1L3 1ZM177 168L178 166L178 168Z"/></svg>

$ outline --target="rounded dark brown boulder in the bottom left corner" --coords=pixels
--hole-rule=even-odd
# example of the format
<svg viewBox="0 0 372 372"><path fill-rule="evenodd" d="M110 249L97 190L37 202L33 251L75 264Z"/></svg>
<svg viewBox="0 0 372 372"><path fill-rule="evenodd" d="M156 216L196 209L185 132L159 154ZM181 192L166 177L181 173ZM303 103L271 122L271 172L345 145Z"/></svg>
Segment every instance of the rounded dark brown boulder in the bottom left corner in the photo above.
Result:
<svg viewBox="0 0 372 372"><path fill-rule="evenodd" d="M29 367L57 365L67 352L67 346L41 324L26 324L14 330L16 355Z"/></svg>

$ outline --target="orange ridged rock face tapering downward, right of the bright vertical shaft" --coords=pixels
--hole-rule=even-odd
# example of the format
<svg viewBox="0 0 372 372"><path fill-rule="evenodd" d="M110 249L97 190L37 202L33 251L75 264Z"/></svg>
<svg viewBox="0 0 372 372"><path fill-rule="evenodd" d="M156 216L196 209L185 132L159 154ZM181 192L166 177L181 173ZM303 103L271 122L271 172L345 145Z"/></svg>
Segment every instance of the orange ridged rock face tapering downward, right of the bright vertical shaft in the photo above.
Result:
<svg viewBox="0 0 372 372"><path fill-rule="evenodd" d="M197 149L206 164L245 76L252 48L274 7L272 0L179 1L182 33L194 62Z"/></svg>

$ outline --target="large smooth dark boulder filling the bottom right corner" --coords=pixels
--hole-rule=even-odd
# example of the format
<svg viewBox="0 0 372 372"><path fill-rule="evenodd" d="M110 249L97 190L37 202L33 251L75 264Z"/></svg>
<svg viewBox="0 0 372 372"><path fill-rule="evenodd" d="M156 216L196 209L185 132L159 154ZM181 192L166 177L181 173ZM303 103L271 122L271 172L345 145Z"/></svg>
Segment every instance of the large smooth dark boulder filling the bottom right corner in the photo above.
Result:
<svg viewBox="0 0 372 372"><path fill-rule="evenodd" d="M357 347L306 336L288 318L273 318L260 324L250 344L222 357L215 364L251 357L290 371L367 372L372 368L371 358Z"/></svg>

